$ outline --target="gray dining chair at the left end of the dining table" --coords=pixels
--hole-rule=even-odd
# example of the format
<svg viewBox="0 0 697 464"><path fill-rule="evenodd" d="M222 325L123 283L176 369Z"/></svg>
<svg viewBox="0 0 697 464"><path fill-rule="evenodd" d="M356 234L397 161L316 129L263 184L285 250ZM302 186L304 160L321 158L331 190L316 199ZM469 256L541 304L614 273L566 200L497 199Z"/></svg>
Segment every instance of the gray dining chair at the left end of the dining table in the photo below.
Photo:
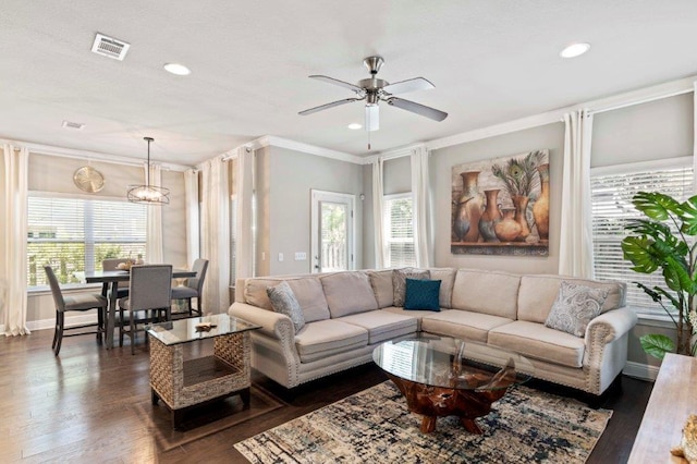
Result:
<svg viewBox="0 0 697 464"><path fill-rule="evenodd" d="M44 270L46 271L46 276L48 277L48 283L51 286L51 294L53 295L53 303L56 304L56 329L53 332L53 343L51 344L51 349L53 350L53 353L56 353L56 356L58 356L61 351L63 337L76 337L96 333L97 341L101 343L101 338L105 333L107 306L109 305L107 298L105 298L99 293L76 293L71 295L63 295L53 269L50 266L44 266ZM78 326L65 327L65 313L71 310L86 312L90 309L97 309L97 323L82 323ZM96 330L82 330L90 327L95 327ZM73 332L74 330L76 332Z"/></svg>

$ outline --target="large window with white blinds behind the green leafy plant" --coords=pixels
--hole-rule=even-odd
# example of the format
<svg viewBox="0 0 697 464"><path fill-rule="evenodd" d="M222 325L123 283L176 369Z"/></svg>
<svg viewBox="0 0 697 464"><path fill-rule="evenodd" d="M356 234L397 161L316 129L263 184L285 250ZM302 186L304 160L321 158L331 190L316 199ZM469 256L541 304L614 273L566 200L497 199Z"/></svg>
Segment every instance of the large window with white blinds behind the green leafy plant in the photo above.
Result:
<svg viewBox="0 0 697 464"><path fill-rule="evenodd" d="M594 169L591 173L594 267L597 279L613 279L627 283L627 305L656 310L663 309L633 282L647 286L663 286L660 269L652 274L634 272L622 254L624 225L631 219L644 218L632 204L637 192L661 192L683 202L693 195L692 157L661 161L659 166L640 163L619 169ZM623 172L620 172L622 170Z"/></svg>

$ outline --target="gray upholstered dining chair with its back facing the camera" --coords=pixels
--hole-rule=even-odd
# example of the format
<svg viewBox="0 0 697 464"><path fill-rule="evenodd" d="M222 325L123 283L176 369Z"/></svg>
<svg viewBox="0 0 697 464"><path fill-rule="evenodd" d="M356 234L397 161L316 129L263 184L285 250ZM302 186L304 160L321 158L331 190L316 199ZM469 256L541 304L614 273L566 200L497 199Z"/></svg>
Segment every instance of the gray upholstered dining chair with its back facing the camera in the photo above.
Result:
<svg viewBox="0 0 697 464"><path fill-rule="evenodd" d="M129 296L119 300L119 346L123 346L123 335L126 334L131 339L131 354L135 354L137 332L144 331L144 329L138 329L137 325L171 320L171 305L172 266L132 266ZM145 315L138 319L137 313L143 312L145 312ZM164 313L164 316L162 316L162 313Z"/></svg>

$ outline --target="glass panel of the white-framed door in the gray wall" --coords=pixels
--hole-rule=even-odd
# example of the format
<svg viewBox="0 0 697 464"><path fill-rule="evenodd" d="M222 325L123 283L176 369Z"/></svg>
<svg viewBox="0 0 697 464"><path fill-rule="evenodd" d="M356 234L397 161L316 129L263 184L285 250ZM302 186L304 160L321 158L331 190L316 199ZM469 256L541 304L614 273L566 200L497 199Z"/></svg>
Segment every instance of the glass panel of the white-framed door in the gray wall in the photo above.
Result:
<svg viewBox="0 0 697 464"><path fill-rule="evenodd" d="M322 272L348 269L348 205L320 202L321 249L320 267Z"/></svg>

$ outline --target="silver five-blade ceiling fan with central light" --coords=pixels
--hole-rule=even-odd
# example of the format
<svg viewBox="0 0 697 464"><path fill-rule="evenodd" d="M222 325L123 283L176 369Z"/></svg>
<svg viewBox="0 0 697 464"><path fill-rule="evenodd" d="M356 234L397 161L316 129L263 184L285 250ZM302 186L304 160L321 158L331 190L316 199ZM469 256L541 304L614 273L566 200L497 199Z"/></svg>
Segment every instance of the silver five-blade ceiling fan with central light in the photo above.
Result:
<svg viewBox="0 0 697 464"><path fill-rule="evenodd" d="M404 94L414 90L428 90L436 87L424 77L414 77L406 81L395 82L394 84L390 84L387 81L378 78L377 74L383 63L384 60L382 59L382 57L368 57L363 60L363 64L365 64L368 71L370 71L370 77L358 81L356 85L329 76L311 75L311 78L316 78L318 81L334 84L340 87L353 90L356 94L356 97L345 98L343 100L332 101L331 103L320 105L319 107L301 111L298 114L313 114L318 111L338 107L340 105L365 100L366 131L377 131L378 129L380 129L380 107L378 106L380 101L387 101L388 105L432 119L433 121L442 121L448 118L447 112L395 97L394 94Z"/></svg>

